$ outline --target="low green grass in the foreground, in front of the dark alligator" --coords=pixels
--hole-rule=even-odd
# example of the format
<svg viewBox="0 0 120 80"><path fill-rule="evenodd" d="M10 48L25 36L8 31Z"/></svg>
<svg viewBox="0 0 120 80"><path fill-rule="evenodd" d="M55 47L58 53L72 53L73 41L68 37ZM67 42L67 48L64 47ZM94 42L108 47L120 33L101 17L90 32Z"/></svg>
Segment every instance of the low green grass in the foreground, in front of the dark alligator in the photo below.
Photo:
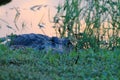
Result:
<svg viewBox="0 0 120 80"><path fill-rule="evenodd" d="M52 54L0 45L0 80L119 80L119 52L88 49Z"/></svg>

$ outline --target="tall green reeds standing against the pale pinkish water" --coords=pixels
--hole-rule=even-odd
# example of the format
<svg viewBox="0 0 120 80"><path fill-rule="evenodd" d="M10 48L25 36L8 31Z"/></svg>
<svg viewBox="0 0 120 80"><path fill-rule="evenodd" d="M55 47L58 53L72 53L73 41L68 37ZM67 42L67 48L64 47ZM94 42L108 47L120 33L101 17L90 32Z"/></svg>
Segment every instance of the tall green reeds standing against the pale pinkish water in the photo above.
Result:
<svg viewBox="0 0 120 80"><path fill-rule="evenodd" d="M54 23L60 37L68 37L78 49L120 47L119 0L65 0L57 7Z"/></svg>

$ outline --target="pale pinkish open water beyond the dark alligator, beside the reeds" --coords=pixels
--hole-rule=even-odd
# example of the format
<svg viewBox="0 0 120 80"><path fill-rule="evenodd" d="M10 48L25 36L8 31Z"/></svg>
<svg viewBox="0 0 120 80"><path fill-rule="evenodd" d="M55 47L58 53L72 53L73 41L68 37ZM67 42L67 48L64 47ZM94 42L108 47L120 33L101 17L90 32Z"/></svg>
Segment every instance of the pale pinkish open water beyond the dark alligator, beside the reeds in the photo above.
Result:
<svg viewBox="0 0 120 80"><path fill-rule="evenodd" d="M55 7L61 2L62 0L12 0L1 6L0 37L11 33L55 36L52 19L56 14ZM40 25L43 27L40 28Z"/></svg>

